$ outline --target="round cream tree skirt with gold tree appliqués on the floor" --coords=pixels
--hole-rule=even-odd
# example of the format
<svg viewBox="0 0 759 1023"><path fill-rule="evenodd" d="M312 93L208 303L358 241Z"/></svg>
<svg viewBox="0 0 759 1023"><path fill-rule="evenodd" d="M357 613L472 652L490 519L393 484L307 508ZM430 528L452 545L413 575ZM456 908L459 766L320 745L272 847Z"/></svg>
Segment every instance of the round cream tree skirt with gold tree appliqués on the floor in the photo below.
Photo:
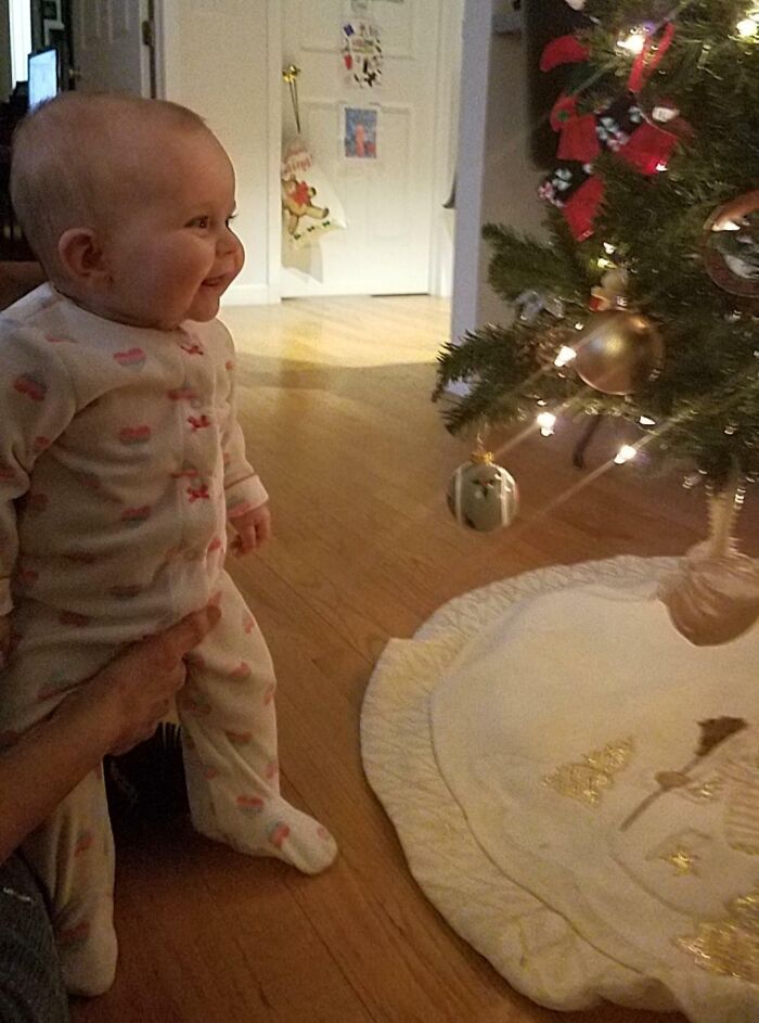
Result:
<svg viewBox="0 0 759 1023"><path fill-rule="evenodd" d="M425 894L529 998L749 1023L759 631L691 645L655 598L674 565L543 568L450 601L383 652L363 764Z"/></svg>

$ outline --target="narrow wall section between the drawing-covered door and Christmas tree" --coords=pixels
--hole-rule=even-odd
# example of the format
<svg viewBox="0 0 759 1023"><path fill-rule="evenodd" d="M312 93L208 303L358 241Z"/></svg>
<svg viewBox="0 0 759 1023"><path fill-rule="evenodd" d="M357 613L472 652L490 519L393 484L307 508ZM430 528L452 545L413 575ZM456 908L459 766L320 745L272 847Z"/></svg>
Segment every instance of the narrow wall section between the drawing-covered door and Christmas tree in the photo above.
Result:
<svg viewBox="0 0 759 1023"><path fill-rule="evenodd" d="M539 234L543 177L529 157L526 47L520 36L496 36L492 18L511 11L502 0L466 0L456 187L452 334L509 316L488 284L483 225L509 223Z"/></svg>

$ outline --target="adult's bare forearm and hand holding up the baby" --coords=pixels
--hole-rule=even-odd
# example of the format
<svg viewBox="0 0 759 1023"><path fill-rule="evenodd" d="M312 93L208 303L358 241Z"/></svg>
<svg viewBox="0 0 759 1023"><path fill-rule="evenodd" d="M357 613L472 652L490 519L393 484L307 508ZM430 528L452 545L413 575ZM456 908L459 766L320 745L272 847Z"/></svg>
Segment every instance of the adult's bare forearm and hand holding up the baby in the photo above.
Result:
<svg viewBox="0 0 759 1023"><path fill-rule="evenodd" d="M152 734L184 682L182 657L219 616L206 608L130 647L0 753L0 862L106 753Z"/></svg>

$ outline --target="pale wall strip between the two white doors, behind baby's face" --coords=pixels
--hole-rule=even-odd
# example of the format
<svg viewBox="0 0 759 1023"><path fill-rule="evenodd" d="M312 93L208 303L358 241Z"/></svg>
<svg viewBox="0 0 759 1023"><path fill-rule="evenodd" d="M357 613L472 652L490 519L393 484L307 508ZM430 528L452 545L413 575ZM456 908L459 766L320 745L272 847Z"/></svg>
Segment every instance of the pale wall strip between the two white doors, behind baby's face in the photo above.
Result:
<svg viewBox="0 0 759 1023"><path fill-rule="evenodd" d="M237 171L235 230L246 260L226 296L231 305L279 297L269 282L280 258L280 97L270 95L270 82L278 78L268 66L268 41L280 38L278 7L271 0L163 2L160 94L205 117ZM270 203L272 188L276 192ZM275 225L269 209L276 213Z"/></svg>

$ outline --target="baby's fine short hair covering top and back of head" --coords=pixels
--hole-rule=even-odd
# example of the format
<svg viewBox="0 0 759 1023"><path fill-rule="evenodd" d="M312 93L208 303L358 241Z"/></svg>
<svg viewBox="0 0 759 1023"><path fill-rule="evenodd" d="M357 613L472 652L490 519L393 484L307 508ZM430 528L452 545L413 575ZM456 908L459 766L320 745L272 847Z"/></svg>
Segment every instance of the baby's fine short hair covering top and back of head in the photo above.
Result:
<svg viewBox="0 0 759 1023"><path fill-rule="evenodd" d="M202 117L178 103L81 92L41 104L16 128L11 202L51 280L62 271L57 245L65 231L100 230L126 187L137 186L139 194L151 158L145 129L209 132Z"/></svg>

